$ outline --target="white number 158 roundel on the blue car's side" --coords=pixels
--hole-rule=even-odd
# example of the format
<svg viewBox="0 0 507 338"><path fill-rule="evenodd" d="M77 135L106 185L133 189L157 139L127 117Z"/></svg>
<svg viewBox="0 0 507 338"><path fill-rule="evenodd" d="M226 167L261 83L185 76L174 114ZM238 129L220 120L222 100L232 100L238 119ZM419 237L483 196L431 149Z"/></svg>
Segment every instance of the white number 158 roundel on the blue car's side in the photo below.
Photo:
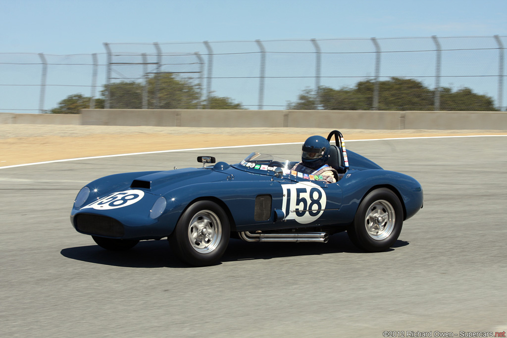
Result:
<svg viewBox="0 0 507 338"><path fill-rule="evenodd" d="M282 189L284 220L295 219L298 223L308 224L324 212L327 199L324 190L317 184L282 184Z"/></svg>

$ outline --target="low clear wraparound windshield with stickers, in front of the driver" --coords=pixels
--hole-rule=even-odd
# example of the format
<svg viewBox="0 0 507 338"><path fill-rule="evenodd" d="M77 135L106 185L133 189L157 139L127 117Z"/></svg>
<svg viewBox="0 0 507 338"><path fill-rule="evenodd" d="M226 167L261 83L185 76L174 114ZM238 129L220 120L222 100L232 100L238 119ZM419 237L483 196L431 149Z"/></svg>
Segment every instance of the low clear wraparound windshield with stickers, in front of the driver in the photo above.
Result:
<svg viewBox="0 0 507 338"><path fill-rule="evenodd" d="M275 168L278 167L282 169L283 176L296 176L289 177L292 179L323 180L321 175L313 175L315 170L303 166L300 162L289 161L269 154L251 153L239 164L249 169L248 171L258 171L267 174L269 171L274 171Z"/></svg>

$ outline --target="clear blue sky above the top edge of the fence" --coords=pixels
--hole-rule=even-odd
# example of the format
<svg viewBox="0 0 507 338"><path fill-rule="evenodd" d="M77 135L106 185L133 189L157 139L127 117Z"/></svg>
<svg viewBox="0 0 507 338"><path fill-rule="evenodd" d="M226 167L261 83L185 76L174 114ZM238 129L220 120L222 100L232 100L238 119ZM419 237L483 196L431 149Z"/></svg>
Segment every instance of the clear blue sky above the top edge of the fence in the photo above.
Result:
<svg viewBox="0 0 507 338"><path fill-rule="evenodd" d="M103 52L103 42L507 33L505 0L0 0L0 52Z"/></svg>

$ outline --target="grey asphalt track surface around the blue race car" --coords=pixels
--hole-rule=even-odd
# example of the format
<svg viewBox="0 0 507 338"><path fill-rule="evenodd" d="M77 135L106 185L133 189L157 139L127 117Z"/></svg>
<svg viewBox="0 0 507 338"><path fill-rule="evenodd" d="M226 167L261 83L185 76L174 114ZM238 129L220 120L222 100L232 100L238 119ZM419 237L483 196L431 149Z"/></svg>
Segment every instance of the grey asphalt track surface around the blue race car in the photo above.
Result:
<svg viewBox="0 0 507 338"><path fill-rule="evenodd" d="M189 268L166 240L126 253L77 233L79 189L117 172L297 159L300 145L88 159L0 169L0 336L336 336L507 327L507 137L349 142L421 182L424 208L387 252L345 233L320 243L231 240L221 264ZM434 336L434 333L433 333Z"/></svg>

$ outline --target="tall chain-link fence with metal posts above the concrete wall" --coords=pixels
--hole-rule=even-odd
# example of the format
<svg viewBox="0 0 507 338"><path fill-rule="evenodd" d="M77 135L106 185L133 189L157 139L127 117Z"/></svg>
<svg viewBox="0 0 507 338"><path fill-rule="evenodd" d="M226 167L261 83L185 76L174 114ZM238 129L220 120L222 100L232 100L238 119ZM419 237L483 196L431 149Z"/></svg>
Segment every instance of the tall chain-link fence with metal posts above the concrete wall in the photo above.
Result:
<svg viewBox="0 0 507 338"><path fill-rule="evenodd" d="M104 43L95 54L0 53L0 111L48 112L77 93L90 97L92 108L148 109L212 108L214 97L248 109L285 109L307 93L318 109L322 89L345 93L361 83L372 86L366 108L377 110L392 78L420 83L431 110L445 110L446 93L466 88L505 110L505 45L507 36L431 36ZM468 98L463 105L478 110Z"/></svg>

